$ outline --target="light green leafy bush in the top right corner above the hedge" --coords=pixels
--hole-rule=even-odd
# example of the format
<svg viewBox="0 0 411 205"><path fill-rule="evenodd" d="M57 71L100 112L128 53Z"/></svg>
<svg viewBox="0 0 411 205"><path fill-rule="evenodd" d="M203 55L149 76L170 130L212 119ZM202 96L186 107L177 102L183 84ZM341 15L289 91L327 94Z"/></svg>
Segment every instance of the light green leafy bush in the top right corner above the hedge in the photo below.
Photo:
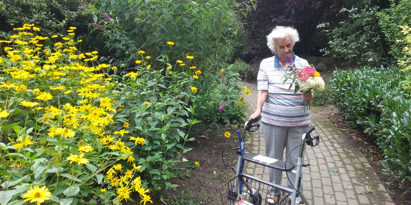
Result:
<svg viewBox="0 0 411 205"><path fill-rule="evenodd" d="M400 0L396 2L392 0L391 8L378 12L379 25L390 45L389 53L395 61L404 58L403 48L406 42L400 25L410 25L411 21L411 1ZM400 41L399 41L400 40Z"/></svg>

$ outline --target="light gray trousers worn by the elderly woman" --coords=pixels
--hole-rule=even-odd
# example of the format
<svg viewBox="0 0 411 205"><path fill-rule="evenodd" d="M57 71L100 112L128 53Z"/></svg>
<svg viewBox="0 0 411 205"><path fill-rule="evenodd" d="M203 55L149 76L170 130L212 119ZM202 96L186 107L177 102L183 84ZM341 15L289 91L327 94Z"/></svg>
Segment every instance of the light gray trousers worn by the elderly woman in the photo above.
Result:
<svg viewBox="0 0 411 205"><path fill-rule="evenodd" d="M285 156L294 149L296 146L301 144L301 137L304 131L308 128L308 125L295 126L295 127L282 127L267 124L262 122L262 132L265 140L265 154L267 157L271 157L278 160L285 160ZM284 156L285 148L285 156ZM295 164L297 168L298 154L300 149L294 149L289 155L287 162ZM269 178L270 182L274 184L281 184L282 171L269 169ZM291 183L294 184L295 174L292 172L287 172L288 177L290 178ZM302 176L302 172L301 175ZM294 185L297 187L298 185ZM292 189L290 182L287 180L287 187ZM302 178L300 184L301 191L303 190ZM280 190L271 189L271 195L279 195Z"/></svg>

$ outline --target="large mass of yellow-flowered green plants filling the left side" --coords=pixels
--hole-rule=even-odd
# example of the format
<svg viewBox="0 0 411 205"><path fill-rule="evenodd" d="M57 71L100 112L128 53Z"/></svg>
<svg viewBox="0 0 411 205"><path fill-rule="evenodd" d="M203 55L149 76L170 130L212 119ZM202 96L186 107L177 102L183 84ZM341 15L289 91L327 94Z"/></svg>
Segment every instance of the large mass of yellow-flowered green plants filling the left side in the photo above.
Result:
<svg viewBox="0 0 411 205"><path fill-rule="evenodd" d="M0 41L1 204L22 203L29 188L60 204L118 204L132 192L148 202L148 187L161 193L199 166L182 162L199 122L195 57L172 65L139 51L120 73L80 53L75 29L60 39L24 24Z"/></svg>

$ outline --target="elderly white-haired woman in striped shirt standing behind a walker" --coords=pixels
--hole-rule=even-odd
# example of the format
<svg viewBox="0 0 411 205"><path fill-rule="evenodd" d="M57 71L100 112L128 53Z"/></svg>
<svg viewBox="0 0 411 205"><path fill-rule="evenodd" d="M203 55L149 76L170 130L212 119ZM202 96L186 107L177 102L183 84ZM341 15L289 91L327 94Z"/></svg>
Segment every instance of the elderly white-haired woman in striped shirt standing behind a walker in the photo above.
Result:
<svg viewBox="0 0 411 205"><path fill-rule="evenodd" d="M291 27L276 26L267 35L267 45L274 56L262 60L258 71L258 95L257 107L250 118L261 115L262 130L265 140L265 153L274 159L283 159L284 148L289 153L287 161L297 163L298 151L290 151L301 143L301 136L310 123L309 110L304 110L303 100L313 100L313 94L297 92L294 94L294 86L289 89L291 80L283 83L285 78L285 65L291 57L297 68L308 66L308 62L296 56L293 52L294 44L299 41L298 32ZM281 183L282 172L270 169L270 182ZM290 181L294 183L295 174L288 172ZM290 181L287 186L292 189ZM302 183L302 180L301 180ZM296 186L296 185L294 185ZM302 184L301 184L302 188ZM270 190L267 203L278 203L279 191ZM300 204L301 198L297 198L296 204Z"/></svg>

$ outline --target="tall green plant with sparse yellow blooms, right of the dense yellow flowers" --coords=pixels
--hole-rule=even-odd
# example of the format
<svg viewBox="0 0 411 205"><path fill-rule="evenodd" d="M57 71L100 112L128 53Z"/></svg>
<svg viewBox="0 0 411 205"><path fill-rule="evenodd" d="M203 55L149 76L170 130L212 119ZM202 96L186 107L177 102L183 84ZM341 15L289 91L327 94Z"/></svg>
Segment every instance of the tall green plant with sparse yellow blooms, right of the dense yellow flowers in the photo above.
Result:
<svg viewBox="0 0 411 205"><path fill-rule="evenodd" d="M193 77L196 69L189 68L192 60L182 67L167 56L147 60L148 53L138 53L141 62L122 74L115 92L117 103L123 105L118 120L127 122L133 134L149 142L132 151L139 157L141 170L146 171L150 190L162 195L177 186L171 179L188 174L186 166L195 167L193 163L178 164L183 163L183 155L191 150L184 147L185 143L195 140L189 133L200 122L194 117L199 109L201 83Z"/></svg>

